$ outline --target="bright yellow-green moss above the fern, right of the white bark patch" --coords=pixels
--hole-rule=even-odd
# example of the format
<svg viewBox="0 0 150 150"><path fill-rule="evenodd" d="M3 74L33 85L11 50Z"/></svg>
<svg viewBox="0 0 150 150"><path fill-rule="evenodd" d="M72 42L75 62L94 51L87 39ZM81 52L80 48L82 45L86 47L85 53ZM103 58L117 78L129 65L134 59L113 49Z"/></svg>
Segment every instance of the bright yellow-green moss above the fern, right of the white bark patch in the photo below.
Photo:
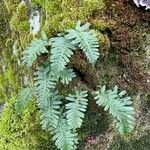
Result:
<svg viewBox="0 0 150 150"><path fill-rule="evenodd" d="M102 11L105 6L103 0L87 0L83 2L76 0L63 0L62 2L52 0L50 3L33 0L32 3L34 6L42 7L45 17L42 30L49 35L74 27L77 20L87 21L94 11Z"/></svg>

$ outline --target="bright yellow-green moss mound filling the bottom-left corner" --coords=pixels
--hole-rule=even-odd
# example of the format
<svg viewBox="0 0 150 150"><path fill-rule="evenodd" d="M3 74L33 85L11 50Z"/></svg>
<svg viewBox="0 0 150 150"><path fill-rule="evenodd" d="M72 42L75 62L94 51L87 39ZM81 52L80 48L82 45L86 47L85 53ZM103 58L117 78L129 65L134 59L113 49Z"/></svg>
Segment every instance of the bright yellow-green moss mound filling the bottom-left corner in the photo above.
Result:
<svg viewBox="0 0 150 150"><path fill-rule="evenodd" d="M5 104L0 124L0 149L5 150L52 150L53 143L46 131L41 130L39 111L31 102L21 117L15 114L16 98Z"/></svg>

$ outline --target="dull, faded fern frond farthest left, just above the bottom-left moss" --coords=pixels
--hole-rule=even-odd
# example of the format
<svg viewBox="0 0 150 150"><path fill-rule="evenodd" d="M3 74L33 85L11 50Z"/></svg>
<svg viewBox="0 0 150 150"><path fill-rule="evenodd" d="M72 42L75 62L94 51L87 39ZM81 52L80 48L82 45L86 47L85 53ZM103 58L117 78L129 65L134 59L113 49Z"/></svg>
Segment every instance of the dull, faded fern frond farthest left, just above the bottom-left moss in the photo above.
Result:
<svg viewBox="0 0 150 150"><path fill-rule="evenodd" d="M33 88L26 87L24 88L18 96L17 103L15 104L15 110L17 114L27 107L28 103L32 100Z"/></svg>

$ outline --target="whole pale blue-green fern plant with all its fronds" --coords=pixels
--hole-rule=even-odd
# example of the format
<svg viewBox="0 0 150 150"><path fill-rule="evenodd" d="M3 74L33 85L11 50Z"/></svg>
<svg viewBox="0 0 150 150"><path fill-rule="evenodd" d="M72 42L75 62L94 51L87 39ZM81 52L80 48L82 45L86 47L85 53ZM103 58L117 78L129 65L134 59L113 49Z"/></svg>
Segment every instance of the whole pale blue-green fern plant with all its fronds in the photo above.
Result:
<svg viewBox="0 0 150 150"><path fill-rule="evenodd" d="M23 53L23 64L31 67L42 53L48 59L33 74L34 82L21 91L16 103L18 114L32 99L36 99L41 111L41 125L53 135L55 145L60 150L75 150L78 144L77 129L81 127L88 105L88 89L76 87L68 96L61 95L57 85L69 84L76 77L68 67L71 56L80 48L93 66L99 58L99 44L89 23L81 25L78 21L75 29L67 30L67 35L36 39ZM50 52L47 46L51 46ZM93 98L99 106L114 117L121 134L128 134L134 128L134 109L130 97L118 87L106 90L105 86L93 91Z"/></svg>

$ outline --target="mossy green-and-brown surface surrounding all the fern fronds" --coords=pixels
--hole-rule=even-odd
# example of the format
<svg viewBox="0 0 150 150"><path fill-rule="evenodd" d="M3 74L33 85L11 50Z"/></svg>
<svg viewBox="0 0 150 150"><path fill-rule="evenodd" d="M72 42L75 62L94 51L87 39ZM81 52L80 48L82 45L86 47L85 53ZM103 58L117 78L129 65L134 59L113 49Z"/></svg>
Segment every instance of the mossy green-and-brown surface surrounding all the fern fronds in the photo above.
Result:
<svg viewBox="0 0 150 150"><path fill-rule="evenodd" d="M125 89L133 97L134 103L140 101L136 106L138 114L136 131L140 134L138 138L133 134L133 139L126 142L114 134L113 144L110 149L120 150L138 149L148 150L149 131L140 131L147 127L148 117L145 118L143 126L140 117L147 116L148 113L143 109L149 104L149 84L147 83L148 67L143 63L145 51L140 45L143 35L150 33L150 13L143 9L138 9L130 0L32 0L35 8L42 9L41 31L45 32L48 37L55 36L59 32L74 27L77 20L90 22L92 28L97 32L101 44L100 58L95 68L88 63L84 55L76 52L71 59L71 65L76 71L78 78L73 85L94 89L100 83L108 87L119 85L120 89ZM46 131L40 128L39 111L35 102L29 105L24 111L24 115L18 118L14 112L14 103L16 95L22 86L22 80L19 78L23 75L25 69L17 63L21 51L29 44L33 36L29 32L29 8L20 3L20 1L6 0L0 2L1 14L0 27L0 101L6 102L6 108L0 121L0 148L6 150L52 150L50 136ZM6 7L5 7L6 6ZM10 25L10 27L9 27ZM36 37L40 37L39 34ZM19 56L14 56L12 46L15 40L18 40ZM142 53L142 55L141 55ZM141 65L142 64L142 65ZM2 69L3 65L7 67ZM145 69L146 68L146 69ZM19 70L19 71L18 71ZM26 72L27 73L27 72ZM62 93L67 93L69 87L65 87ZM137 100L137 94L143 98ZM89 98L89 108L86 114L85 122L79 130L79 150L84 149L85 140L90 136L106 138L111 134L111 119L107 113L98 109ZM147 101L144 101L147 99ZM143 100L143 101L142 101ZM143 106L142 110L139 109ZM115 136L116 135L116 136ZM100 140L102 139L100 138ZM112 140L112 139L111 139ZM110 143L111 143L110 142ZM138 146L138 142L144 143L143 147ZM97 149L110 144L108 140L90 146L88 149ZM121 147L121 145L124 145ZM101 147L100 147L101 145ZM141 144L142 145L142 144ZM142 149L140 149L142 148Z"/></svg>

